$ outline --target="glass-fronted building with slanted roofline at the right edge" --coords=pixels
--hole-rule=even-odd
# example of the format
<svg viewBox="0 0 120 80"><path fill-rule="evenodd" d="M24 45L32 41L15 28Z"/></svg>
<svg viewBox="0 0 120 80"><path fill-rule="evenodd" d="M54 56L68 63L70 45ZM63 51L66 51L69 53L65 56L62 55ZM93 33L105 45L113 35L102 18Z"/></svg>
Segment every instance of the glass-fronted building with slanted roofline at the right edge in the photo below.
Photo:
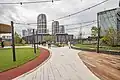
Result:
<svg viewBox="0 0 120 80"><path fill-rule="evenodd" d="M100 27L100 36L107 35L108 30L111 30L112 28L115 31L113 35L116 35L114 37L114 44L120 45L120 8L99 12L97 16Z"/></svg>

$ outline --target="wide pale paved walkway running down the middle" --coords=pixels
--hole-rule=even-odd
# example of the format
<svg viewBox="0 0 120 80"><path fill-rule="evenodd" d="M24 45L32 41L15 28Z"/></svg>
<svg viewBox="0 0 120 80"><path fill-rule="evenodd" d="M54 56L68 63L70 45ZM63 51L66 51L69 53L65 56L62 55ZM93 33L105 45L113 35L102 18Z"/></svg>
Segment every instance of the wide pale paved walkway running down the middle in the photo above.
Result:
<svg viewBox="0 0 120 80"><path fill-rule="evenodd" d="M17 80L99 80L83 64L78 50L52 48L52 56L34 72L16 78Z"/></svg>

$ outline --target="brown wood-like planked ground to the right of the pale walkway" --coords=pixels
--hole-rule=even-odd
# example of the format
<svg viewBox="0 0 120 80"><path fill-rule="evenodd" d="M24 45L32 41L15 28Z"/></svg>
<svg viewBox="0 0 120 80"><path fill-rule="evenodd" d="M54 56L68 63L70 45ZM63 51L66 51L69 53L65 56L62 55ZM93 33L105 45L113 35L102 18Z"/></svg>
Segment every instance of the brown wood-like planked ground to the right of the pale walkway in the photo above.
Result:
<svg viewBox="0 0 120 80"><path fill-rule="evenodd" d="M80 59L100 80L120 80L120 56L82 51Z"/></svg>

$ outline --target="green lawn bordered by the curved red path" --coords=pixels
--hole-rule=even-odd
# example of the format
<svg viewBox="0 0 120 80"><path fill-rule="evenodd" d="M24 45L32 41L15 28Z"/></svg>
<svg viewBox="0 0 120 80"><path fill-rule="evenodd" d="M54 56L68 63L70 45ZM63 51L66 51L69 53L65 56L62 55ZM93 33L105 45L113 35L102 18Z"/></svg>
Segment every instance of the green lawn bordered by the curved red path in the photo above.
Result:
<svg viewBox="0 0 120 80"><path fill-rule="evenodd" d="M0 49L0 72L20 66L40 54L37 50L37 54L34 54L33 48L17 48L16 49L16 62L12 59L12 49Z"/></svg>

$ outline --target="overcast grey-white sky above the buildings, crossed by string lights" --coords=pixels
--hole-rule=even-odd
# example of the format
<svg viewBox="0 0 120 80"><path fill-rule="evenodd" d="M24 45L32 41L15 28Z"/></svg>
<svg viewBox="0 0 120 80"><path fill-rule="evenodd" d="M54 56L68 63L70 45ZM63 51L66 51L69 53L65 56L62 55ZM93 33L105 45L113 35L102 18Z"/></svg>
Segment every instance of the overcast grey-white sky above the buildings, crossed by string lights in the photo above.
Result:
<svg viewBox="0 0 120 80"><path fill-rule="evenodd" d="M44 1L44 0L0 0L0 3L24 2L24 1ZM49 29L49 31L51 31L51 27L52 27L51 20L56 20L59 17L63 17L65 15L69 15L71 13L86 9L102 1L104 0L60 0L60 1L54 1L53 3L50 2L50 3L23 4L23 5L0 4L0 23L10 24L10 21L14 21L17 23L36 23L37 16L39 14L46 14L47 21L50 21L47 23L47 28ZM62 24L72 24L72 23L80 23L80 22L96 20L96 16L98 12L116 8L118 7L118 3L119 0L109 0L108 2L105 2L104 4L101 4L88 11L58 21L59 24L62 25ZM36 25L15 24L14 26L15 26L15 31L20 35L22 35L23 29L37 28ZM80 27L80 26L83 25L65 26L65 29ZM92 26L96 26L96 24L82 28L82 33L84 36L90 35ZM79 28L72 29L66 31L66 33L74 34L75 36L77 36L79 34L79 30L80 30Z"/></svg>

